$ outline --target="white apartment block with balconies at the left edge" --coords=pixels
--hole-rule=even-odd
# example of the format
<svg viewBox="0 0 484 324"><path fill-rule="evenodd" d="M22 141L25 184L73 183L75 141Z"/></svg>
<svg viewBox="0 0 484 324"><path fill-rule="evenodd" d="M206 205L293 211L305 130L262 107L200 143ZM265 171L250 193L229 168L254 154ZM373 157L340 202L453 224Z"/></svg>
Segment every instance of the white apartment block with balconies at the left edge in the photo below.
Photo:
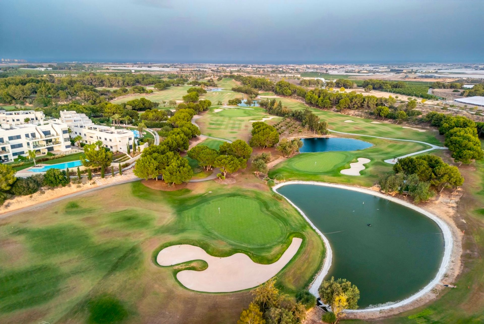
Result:
<svg viewBox="0 0 484 324"><path fill-rule="evenodd" d="M14 115L25 116L25 114ZM18 122L17 120L13 121L11 124L1 123L1 162L11 162L18 155L27 155L29 150L35 150L40 154L46 154L47 152L62 154L72 150L69 139L69 127L66 124L52 118L40 118L40 120L36 120L35 118L39 116L37 116L37 114L31 115L34 119L32 120L32 123L29 124L25 124L23 120L20 124L16 124Z"/></svg>

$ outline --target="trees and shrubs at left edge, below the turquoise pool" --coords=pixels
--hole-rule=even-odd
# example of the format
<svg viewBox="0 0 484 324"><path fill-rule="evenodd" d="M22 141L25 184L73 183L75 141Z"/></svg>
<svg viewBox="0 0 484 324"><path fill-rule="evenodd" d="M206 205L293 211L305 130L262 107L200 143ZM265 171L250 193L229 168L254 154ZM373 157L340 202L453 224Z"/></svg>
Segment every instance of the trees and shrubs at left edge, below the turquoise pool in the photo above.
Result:
<svg viewBox="0 0 484 324"><path fill-rule="evenodd" d="M66 170L48 169L45 175L34 174L26 178L16 178L15 170L11 166L0 164L0 205L12 195L32 195L41 187L66 186L69 182Z"/></svg>

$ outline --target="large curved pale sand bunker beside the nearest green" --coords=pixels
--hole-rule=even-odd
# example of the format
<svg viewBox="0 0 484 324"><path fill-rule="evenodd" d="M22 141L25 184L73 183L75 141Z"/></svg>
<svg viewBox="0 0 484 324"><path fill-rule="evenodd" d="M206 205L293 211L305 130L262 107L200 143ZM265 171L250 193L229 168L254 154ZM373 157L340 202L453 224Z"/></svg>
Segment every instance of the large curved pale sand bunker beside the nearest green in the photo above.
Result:
<svg viewBox="0 0 484 324"><path fill-rule="evenodd" d="M255 263L243 253L227 257L212 256L202 248L188 244L168 246L158 253L156 262L161 266L173 266L192 260L204 260L208 263L207 269L183 270L177 273L177 279L188 289L227 293L253 288L271 279L298 252L301 243L302 239L293 238L279 260L269 265Z"/></svg>

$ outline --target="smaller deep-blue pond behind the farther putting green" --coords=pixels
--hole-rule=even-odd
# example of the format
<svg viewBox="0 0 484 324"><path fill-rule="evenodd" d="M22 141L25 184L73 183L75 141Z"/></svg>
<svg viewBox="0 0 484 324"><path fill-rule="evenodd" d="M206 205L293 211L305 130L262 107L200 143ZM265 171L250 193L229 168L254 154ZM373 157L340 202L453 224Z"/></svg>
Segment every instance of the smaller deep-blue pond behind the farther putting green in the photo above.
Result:
<svg viewBox="0 0 484 324"><path fill-rule="evenodd" d="M342 137L311 137L302 139L299 152L356 151L371 147L372 144Z"/></svg>

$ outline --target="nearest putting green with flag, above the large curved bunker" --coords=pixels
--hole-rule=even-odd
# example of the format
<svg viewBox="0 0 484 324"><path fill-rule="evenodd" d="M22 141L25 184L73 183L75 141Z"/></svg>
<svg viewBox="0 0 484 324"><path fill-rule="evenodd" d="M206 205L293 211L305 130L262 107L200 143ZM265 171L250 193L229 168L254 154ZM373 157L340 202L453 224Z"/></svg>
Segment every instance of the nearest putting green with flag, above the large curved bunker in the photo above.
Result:
<svg viewBox="0 0 484 324"><path fill-rule="evenodd" d="M246 197L215 198L182 215L200 219L209 232L221 239L247 246L271 245L286 234L284 226L262 203Z"/></svg>

